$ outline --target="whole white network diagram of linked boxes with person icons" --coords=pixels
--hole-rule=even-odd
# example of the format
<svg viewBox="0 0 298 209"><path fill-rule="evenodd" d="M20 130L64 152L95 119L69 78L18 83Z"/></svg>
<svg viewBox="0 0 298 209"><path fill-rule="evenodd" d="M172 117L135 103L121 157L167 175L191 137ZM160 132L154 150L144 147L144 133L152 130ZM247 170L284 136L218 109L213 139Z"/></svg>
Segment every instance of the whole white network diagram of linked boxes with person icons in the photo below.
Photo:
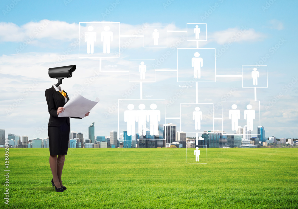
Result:
<svg viewBox="0 0 298 209"><path fill-rule="evenodd" d="M161 26L144 26L142 34L121 35L120 22L80 22L79 58L99 58L100 72L128 73L128 82L140 83L140 99L118 99L118 133L127 130L127 135L134 140L136 133L158 135L158 124L166 124L167 119L180 120L180 128L186 133L196 135L196 147L206 149L207 145L198 145L199 134L204 130L214 131L214 121L222 122L222 130L235 131L239 126L246 126L251 135L257 135L260 122L260 101L257 100L257 88L268 87L267 65L245 65L241 75L217 75L215 48L199 48L199 42L207 41L207 24L187 23L186 30L168 30ZM120 57L120 39L123 37L143 38L144 48L167 48L169 33L186 33L187 42L195 42L194 48L177 48L177 69L157 70L155 59L134 59L129 57L128 70L102 70L103 58ZM116 53L115 53L116 52ZM156 82L156 72L176 71L177 83L193 83L196 89L195 103L180 103L180 117L167 117L165 99L144 99L143 83ZM254 89L254 100L221 101L222 117L214 117L213 103L198 103L198 83L214 83L217 77L241 77L243 88ZM214 111L211 111L214 113ZM150 124L150 125L148 125ZM142 139L143 140L143 139ZM193 159L201 163L199 155L204 150L195 149Z"/></svg>

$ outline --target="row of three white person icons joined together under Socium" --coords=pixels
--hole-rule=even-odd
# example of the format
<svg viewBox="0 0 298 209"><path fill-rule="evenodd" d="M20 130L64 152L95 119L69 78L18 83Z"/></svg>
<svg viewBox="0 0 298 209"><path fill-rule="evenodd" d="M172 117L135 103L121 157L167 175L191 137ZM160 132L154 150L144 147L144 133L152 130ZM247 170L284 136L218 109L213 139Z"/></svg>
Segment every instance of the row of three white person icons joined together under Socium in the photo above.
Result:
<svg viewBox="0 0 298 209"><path fill-rule="evenodd" d="M160 110L156 110L157 105L151 104L151 110L144 110L144 104L139 105L139 110L134 110L134 105L127 105L124 111L124 122L127 122L127 135L135 136L135 122L138 122L139 135L146 135L146 122L150 122L150 135L158 135L158 122L160 121Z"/></svg>

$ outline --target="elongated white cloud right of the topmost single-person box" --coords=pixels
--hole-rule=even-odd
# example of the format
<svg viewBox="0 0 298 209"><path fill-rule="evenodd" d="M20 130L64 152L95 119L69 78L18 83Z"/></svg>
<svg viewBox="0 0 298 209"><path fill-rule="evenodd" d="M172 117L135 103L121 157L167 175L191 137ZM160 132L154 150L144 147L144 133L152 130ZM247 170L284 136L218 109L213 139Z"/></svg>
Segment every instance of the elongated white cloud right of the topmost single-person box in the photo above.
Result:
<svg viewBox="0 0 298 209"><path fill-rule="evenodd" d="M256 32L253 28L234 27L226 30L216 31L209 36L211 41L218 44L226 44L228 42L243 42L243 41L261 41L266 38L266 35Z"/></svg>

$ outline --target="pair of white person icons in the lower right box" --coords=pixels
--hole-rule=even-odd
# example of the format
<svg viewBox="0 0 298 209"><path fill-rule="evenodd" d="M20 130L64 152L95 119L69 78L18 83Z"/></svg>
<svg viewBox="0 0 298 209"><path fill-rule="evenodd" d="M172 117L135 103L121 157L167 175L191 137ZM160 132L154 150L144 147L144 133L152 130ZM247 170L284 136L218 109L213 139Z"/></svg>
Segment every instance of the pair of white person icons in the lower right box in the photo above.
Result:
<svg viewBox="0 0 298 209"><path fill-rule="evenodd" d="M256 117L256 113L252 110L252 105L246 106L247 110L244 110L244 119L246 119L247 130L253 130L253 121ZM229 119L232 121L232 130L238 129L238 119L240 119L240 110L236 110L237 105L232 105L232 110L229 110Z"/></svg>

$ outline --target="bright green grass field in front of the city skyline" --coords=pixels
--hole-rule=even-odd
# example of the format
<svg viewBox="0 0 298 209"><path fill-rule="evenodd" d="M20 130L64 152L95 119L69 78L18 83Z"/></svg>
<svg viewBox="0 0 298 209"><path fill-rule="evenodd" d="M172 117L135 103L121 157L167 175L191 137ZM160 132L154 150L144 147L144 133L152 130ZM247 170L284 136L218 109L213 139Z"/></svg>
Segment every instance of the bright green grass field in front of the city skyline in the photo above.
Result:
<svg viewBox="0 0 298 209"><path fill-rule="evenodd" d="M297 151L208 148L187 164L185 148L69 148L58 193L48 149L10 148L1 208L298 208Z"/></svg>

